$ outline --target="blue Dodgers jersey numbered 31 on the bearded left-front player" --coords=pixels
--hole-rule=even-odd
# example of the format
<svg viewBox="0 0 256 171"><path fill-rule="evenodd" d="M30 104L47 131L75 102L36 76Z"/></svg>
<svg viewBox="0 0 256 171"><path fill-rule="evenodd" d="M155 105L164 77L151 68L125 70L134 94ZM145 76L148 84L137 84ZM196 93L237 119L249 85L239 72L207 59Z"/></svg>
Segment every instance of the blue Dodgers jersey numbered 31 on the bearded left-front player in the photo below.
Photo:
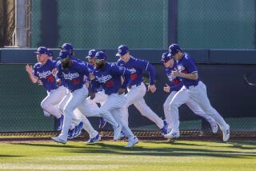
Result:
<svg viewBox="0 0 256 171"><path fill-rule="evenodd" d="M62 78L64 85L70 89L70 91L74 91L76 89L81 89L85 84L84 76L89 77L90 70L88 68L88 64L85 62L78 62L74 58L71 58L72 65L70 68L63 69L62 63L58 63L58 78Z"/></svg>

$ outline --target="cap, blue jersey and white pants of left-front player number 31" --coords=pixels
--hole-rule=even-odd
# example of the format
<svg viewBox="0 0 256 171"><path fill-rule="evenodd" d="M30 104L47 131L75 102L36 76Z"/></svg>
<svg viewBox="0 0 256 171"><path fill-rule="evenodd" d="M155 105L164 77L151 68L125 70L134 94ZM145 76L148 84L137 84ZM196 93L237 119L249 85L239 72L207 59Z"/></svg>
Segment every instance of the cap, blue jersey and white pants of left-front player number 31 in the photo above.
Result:
<svg viewBox="0 0 256 171"><path fill-rule="evenodd" d="M69 52L62 51L60 58L66 58ZM74 109L78 108L81 113L98 113L97 108L90 108L86 103L85 98L88 95L88 89L84 86L83 77L89 75L88 67L85 63L78 62L74 58L71 58L72 66L68 69L62 69L61 63L58 63L58 78L62 78L68 93L62 100L62 104L65 104L63 108L64 123L62 133L58 137L53 137L54 141L66 143L68 137L68 131L71 125L72 117L74 116ZM85 124L86 125L86 124Z"/></svg>

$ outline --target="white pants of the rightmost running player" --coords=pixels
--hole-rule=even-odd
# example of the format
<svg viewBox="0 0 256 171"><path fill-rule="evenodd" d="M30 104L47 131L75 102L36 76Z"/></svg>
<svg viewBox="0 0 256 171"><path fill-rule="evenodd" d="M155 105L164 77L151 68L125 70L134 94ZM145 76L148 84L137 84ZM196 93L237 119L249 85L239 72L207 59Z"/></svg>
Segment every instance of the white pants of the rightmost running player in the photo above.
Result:
<svg viewBox="0 0 256 171"><path fill-rule="evenodd" d="M179 131L178 107L190 101L190 99L196 101L207 115L213 117L214 120L217 121L222 131L229 128L223 117L210 105L209 98L207 97L206 85L203 82L198 82L197 86L190 86L189 89L186 89L186 87L183 85L182 89L180 89L178 93L174 95L172 101L170 102L170 116L173 123L172 132Z"/></svg>

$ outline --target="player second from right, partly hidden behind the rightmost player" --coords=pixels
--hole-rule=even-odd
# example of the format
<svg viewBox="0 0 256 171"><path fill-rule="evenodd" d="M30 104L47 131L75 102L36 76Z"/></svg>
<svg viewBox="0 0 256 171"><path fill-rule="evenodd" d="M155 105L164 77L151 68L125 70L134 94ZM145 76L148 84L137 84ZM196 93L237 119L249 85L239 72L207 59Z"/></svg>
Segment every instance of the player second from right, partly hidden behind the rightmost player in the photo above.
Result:
<svg viewBox="0 0 256 171"><path fill-rule="evenodd" d="M162 54L161 62L166 68L166 75L167 75L167 78L169 79L168 84L166 84L166 86L163 88L163 90L166 93L170 93L169 96L166 98L166 101L163 105L163 109L164 109L164 113L165 113L166 121L167 121L167 125L168 125L167 131L168 131L168 133L170 133L170 131L172 129L172 125L176 124L176 123L173 124L172 120L171 120L170 101L172 101L172 99L174 98L174 95L178 92L178 90L182 88L183 84L179 78L173 77L172 73L175 71L175 69L177 69L177 67L176 67L176 63L174 62L174 58L171 58L170 56L168 56L168 54L169 54L168 52ZM186 102L186 105L195 114L197 114L198 116L204 117L206 119L206 121L208 121L210 123L213 133L217 133L217 131L218 131L217 122L214 121L214 118L210 117L210 115L207 115L201 109L201 107L198 105L197 101L194 101L193 98L190 98L190 100Z"/></svg>

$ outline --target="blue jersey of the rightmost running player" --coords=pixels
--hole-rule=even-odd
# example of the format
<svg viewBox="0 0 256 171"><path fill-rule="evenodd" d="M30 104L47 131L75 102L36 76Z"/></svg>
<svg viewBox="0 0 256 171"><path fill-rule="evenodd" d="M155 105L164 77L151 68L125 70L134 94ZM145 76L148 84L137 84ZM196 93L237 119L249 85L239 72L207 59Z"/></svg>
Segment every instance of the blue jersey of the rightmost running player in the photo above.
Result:
<svg viewBox="0 0 256 171"><path fill-rule="evenodd" d="M197 73L198 69L194 64L194 59L190 55L184 53L181 60L177 62L178 71L184 74ZM186 78L181 78L183 85L188 88L190 85L198 85L199 78L197 80L190 80Z"/></svg>

